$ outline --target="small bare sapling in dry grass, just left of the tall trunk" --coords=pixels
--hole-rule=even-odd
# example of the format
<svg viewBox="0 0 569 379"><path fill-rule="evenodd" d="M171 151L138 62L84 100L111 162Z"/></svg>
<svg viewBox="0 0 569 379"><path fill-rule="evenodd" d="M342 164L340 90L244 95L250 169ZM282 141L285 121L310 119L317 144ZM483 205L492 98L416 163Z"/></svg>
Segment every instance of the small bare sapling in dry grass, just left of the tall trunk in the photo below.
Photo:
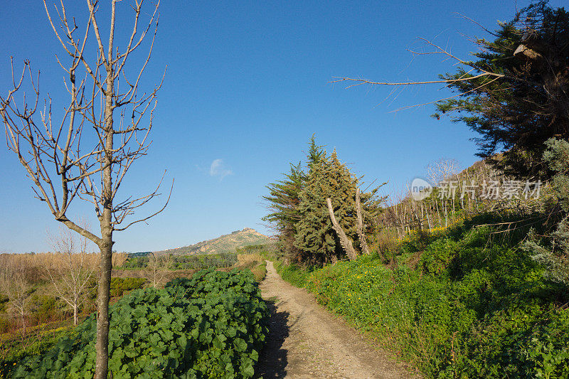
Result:
<svg viewBox="0 0 569 379"><path fill-rule="evenodd" d="M77 325L78 311L85 301L85 291L99 259L97 255L87 253L87 237L76 238L70 229L62 228L59 235L50 240L55 253L46 271L55 294L73 310L73 325Z"/></svg>

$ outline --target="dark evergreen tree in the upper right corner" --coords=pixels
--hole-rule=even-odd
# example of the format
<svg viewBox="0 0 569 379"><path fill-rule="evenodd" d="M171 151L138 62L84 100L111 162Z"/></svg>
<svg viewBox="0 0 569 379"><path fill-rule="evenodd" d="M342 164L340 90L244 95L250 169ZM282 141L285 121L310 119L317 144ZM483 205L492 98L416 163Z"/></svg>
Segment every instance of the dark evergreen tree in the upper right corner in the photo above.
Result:
<svg viewBox="0 0 569 379"><path fill-rule="evenodd" d="M438 102L434 117L454 114L479 133L479 156L504 151L493 163L506 174L547 178L544 142L569 139L569 12L540 1L493 34L477 40L477 60L441 75L459 95Z"/></svg>

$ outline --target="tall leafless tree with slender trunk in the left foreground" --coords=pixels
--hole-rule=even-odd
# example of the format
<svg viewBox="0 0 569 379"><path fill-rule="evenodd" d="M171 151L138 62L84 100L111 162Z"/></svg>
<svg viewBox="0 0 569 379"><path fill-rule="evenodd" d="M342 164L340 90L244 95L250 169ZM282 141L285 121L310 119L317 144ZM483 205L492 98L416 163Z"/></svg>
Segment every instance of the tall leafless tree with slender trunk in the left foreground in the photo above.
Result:
<svg viewBox="0 0 569 379"><path fill-rule="evenodd" d="M130 166L149 149L156 93L161 87L160 82L149 92L139 89L154 46L160 1L151 6L149 13L142 13L144 0L132 0L132 32L122 49L115 46L119 2L108 2L110 20L106 39L97 18L98 0L87 0L87 16L80 22L83 22L81 27L75 17L68 16L63 1L55 6L53 13L44 0L48 21L66 56L65 59L56 56L65 71L69 98L62 114L52 113L51 97L41 99L39 73L34 77L28 60L23 63L21 75L14 74L12 63L13 88L5 97L0 96L0 117L8 147L33 181L36 198L46 203L55 220L95 242L100 249L95 377L101 379L107 378L113 233L148 220L168 203L156 213L132 220L129 216L135 210L159 195L160 184L146 196L117 198ZM52 14L57 14L58 19L54 21ZM142 21L141 16L146 14L147 21ZM151 41L146 55L137 68L130 68L130 63L134 63L133 52L138 53L145 46L143 41L148 34ZM94 51L87 53L90 48ZM92 204L100 223L100 235L82 228L69 217L68 209L75 198Z"/></svg>

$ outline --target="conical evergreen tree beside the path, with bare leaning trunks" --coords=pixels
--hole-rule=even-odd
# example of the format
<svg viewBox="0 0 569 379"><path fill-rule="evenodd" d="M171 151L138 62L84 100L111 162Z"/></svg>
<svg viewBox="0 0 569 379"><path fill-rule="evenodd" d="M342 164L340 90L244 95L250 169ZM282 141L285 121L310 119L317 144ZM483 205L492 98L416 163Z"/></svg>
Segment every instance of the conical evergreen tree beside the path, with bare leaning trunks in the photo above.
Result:
<svg viewBox="0 0 569 379"><path fill-rule="evenodd" d="M328 156L314 136L309 142L306 171L302 163L291 164L290 174L269 184L270 196L264 196L270 213L263 218L279 231L282 255L293 262L321 265L346 257L333 228L326 198L331 198L334 215L346 235L361 248L356 232L356 189L361 177L342 164L336 150ZM379 188L379 187L378 187ZM373 218L385 198L376 198L378 188L361 194L364 218ZM370 230L368 230L370 231Z"/></svg>

